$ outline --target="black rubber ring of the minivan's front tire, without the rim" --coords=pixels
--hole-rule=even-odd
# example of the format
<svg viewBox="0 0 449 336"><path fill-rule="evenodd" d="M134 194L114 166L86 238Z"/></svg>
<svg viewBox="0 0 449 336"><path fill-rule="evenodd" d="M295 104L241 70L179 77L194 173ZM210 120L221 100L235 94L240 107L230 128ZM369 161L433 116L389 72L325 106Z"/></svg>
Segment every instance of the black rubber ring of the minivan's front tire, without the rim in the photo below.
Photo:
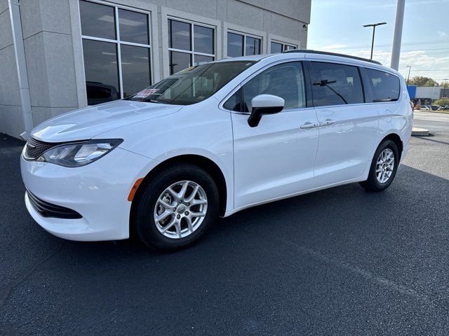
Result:
<svg viewBox="0 0 449 336"><path fill-rule="evenodd" d="M154 207L163 190L178 181L194 181L203 188L208 200L208 209L201 226L191 235L171 239L165 237L157 230L154 223ZM190 164L180 164L160 172L149 181L140 195L135 207L135 232L140 240L147 246L159 251L173 251L182 248L199 239L201 235L215 222L218 211L218 190L215 182L205 170Z"/></svg>

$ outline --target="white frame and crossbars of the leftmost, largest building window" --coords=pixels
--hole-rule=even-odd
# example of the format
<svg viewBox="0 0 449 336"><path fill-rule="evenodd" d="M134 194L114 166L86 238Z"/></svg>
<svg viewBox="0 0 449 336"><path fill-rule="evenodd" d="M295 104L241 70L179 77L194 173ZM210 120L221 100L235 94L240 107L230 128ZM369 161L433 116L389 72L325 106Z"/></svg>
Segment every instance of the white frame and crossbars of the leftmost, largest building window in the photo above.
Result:
<svg viewBox="0 0 449 336"><path fill-rule="evenodd" d="M114 43L116 45L116 50L117 50L117 69L119 72L119 90L120 90L120 98L119 99L123 99L123 73L122 73L122 69L121 69L121 48L120 46L122 44L124 45L132 45L135 47L142 47L142 48L147 48L149 50L149 85L152 85L152 83L154 82L154 69L153 69L153 48L152 48L152 11L151 10L142 10L139 8L133 8L133 7L129 7L129 6L122 6L116 3L110 3L107 1L101 1L101 0L82 0L82 1L86 1L86 2L91 2L91 3L98 3L99 5L104 5L104 6L109 6L114 8L114 29L115 29L115 33L116 33L116 39L110 39L110 38L102 38L102 37L96 37L96 36L89 36L89 35L83 35L82 33L82 27L81 27L81 10L79 10L79 27L80 27L80 33L81 33L81 54L84 55L84 51L83 51L83 40L91 40L91 41L100 41L100 42L109 42L109 43ZM78 0L78 5L81 2L81 0ZM142 43L135 43L135 42L128 42L128 41L121 41L120 39L120 24L119 24L119 9L123 9L123 10L129 10L131 12L136 12L136 13L142 13L147 15L147 27L148 27L148 42L149 44L142 44ZM84 56L83 56L83 73L84 76L86 76L86 69L84 66ZM86 78L84 78L84 83L86 83ZM86 88L84 89L86 91ZM87 98L87 91L86 91L86 98ZM89 106L89 105L88 105Z"/></svg>

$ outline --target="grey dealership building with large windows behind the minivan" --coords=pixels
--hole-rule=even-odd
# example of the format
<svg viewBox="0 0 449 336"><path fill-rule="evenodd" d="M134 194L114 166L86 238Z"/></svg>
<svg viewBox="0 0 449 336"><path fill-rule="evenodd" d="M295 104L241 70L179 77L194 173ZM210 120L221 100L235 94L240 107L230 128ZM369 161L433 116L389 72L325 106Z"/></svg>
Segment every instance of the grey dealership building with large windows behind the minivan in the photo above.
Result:
<svg viewBox="0 0 449 336"><path fill-rule="evenodd" d="M311 0L0 0L0 132L224 57L305 48Z"/></svg>

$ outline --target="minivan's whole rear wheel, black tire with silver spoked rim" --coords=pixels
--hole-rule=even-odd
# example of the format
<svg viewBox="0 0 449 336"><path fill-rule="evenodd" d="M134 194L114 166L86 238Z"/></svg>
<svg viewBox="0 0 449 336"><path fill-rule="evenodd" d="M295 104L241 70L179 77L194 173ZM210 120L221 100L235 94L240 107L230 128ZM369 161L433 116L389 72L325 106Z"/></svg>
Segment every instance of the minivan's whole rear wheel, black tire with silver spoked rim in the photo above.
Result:
<svg viewBox="0 0 449 336"><path fill-rule="evenodd" d="M380 166L379 160L382 160L382 158L380 158L380 155L382 155L382 153L387 153L387 155L391 154L393 156L394 159L393 167L391 167L391 165L388 164L390 160L386 160L387 162L385 162L385 164L382 164L382 166ZM391 156L390 157L387 156L384 158L391 158ZM382 141L382 143L379 145L379 147L377 147L377 150L375 151L370 166L370 173L368 174L368 179L366 181L361 182L360 185L366 190L374 192L379 192L387 189L390 186L391 182L393 182L394 176L396 176L396 170L398 169L399 160L400 156L398 146L396 146L396 143L392 140ZM380 168L385 172L383 178L382 178L382 171L380 172L380 177L379 174L377 174L376 172L376 169ZM389 172L391 172L391 174L390 176L387 176Z"/></svg>

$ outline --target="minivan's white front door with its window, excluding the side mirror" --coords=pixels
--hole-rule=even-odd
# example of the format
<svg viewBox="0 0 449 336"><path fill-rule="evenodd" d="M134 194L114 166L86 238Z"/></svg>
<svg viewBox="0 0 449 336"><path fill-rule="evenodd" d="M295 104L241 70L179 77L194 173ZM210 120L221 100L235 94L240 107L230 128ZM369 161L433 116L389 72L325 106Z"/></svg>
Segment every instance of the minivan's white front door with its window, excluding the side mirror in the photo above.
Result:
<svg viewBox="0 0 449 336"><path fill-rule="evenodd" d="M248 125L251 99L274 94L285 100L283 111ZM284 62L260 71L232 95L234 110L234 207L236 209L308 190L314 185L318 120L307 107L301 62Z"/></svg>

